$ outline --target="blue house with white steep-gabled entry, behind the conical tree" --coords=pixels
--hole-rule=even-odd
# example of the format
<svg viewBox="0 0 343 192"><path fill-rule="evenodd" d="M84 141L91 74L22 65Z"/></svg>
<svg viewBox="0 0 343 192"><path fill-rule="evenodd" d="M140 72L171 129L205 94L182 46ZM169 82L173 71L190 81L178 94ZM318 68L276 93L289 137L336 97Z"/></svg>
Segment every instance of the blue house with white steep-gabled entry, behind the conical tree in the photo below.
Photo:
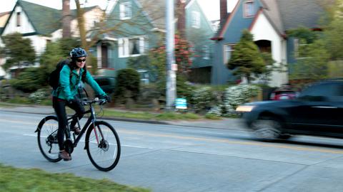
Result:
<svg viewBox="0 0 343 192"><path fill-rule="evenodd" d="M313 0L239 0L230 14L227 14L227 0L220 0L220 4L221 26L212 38L214 84L235 79L226 64L243 29L249 29L259 49L271 53L278 65L294 63L294 51L299 45L297 39L287 36L287 31L299 27L318 30L319 18L324 13ZM288 72L273 72L268 84L279 87L287 82Z"/></svg>

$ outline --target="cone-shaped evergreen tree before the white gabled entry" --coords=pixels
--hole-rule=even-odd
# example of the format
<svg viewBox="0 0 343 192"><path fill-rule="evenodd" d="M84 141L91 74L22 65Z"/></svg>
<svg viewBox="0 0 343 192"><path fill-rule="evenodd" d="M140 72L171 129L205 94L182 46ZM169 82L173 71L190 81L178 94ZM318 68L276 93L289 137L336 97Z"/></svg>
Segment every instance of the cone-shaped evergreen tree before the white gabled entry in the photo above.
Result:
<svg viewBox="0 0 343 192"><path fill-rule="evenodd" d="M267 72L267 65L247 29L242 31L239 43L234 46L227 68L234 70L234 75L247 78L248 83L254 79L253 75L258 77Z"/></svg>

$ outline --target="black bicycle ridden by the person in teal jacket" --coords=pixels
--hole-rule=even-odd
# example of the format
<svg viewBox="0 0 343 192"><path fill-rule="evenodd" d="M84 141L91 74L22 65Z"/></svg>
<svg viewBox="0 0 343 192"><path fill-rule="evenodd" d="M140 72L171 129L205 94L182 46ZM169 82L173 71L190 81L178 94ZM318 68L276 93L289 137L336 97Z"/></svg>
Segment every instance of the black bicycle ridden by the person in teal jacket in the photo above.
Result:
<svg viewBox="0 0 343 192"><path fill-rule="evenodd" d="M71 154L77 146L81 137L86 132L84 149L91 164L100 171L110 171L114 169L120 158L120 141L116 130L111 124L96 120L96 113L94 104L103 105L106 100L82 100L81 105L88 105L89 110L84 114L90 114L80 134L76 137L73 133L71 137L71 130L69 124L72 119L77 119L77 124L80 127L79 118L76 114L68 117L68 126L65 132L64 149ZM48 115L41 119L35 132L37 132L37 140L41 154L51 162L61 161L59 158L59 144L57 141L57 130L59 129L59 122L55 115ZM97 156L107 155L96 159Z"/></svg>

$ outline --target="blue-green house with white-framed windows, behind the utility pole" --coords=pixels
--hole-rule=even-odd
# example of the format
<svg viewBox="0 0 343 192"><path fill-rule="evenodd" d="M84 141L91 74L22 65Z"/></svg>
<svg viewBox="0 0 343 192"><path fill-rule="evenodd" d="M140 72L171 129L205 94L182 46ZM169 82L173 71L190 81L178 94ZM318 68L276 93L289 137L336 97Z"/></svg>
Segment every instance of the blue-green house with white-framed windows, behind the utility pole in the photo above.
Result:
<svg viewBox="0 0 343 192"><path fill-rule="evenodd" d="M212 23L204 15L197 0L177 0L175 8L177 33L189 41L194 52L191 79L195 82L210 82L214 45L209 40L214 35ZM120 27L119 30L116 28L104 34L106 39L97 43L94 53L100 58L98 67L115 70L126 68L130 58L144 55L150 48L164 43L164 1L118 0L107 25Z"/></svg>

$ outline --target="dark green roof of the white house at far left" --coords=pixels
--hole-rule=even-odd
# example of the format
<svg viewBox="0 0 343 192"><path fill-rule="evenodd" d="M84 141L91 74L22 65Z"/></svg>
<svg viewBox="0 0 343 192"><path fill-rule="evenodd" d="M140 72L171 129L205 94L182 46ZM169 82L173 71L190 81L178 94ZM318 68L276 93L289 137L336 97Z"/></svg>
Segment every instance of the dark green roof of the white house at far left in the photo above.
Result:
<svg viewBox="0 0 343 192"><path fill-rule="evenodd" d="M14 9L16 6L21 6L21 9L29 18L29 21L34 27L36 33L41 35L49 35L61 28L62 11L59 9L53 9L47 6L41 6L39 4L33 4L22 0L16 1ZM90 11L91 9L94 9L94 7L96 6L86 7L84 8L84 11ZM11 15L14 14L13 11L11 11ZM71 10L71 17L76 18L76 9ZM7 23L8 22L9 20L7 20ZM6 28L6 25L4 28Z"/></svg>

